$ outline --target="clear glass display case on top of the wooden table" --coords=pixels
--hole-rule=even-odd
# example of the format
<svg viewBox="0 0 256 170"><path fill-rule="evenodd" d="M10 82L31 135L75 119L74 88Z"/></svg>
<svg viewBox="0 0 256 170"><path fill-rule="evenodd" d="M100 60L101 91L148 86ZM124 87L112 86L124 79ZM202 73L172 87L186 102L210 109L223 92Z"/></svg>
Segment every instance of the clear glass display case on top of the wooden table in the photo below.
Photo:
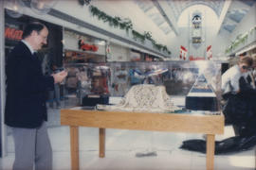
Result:
<svg viewBox="0 0 256 170"><path fill-rule="evenodd" d="M127 94L135 89L134 86L144 85L140 93L135 92L139 95L133 96L136 100L146 101L150 95L155 95L152 87L161 87L165 91L162 101L171 102L178 108L175 111L220 113L221 64L218 62L84 63L65 64L64 69L68 72L64 82L64 108L95 108L98 104L119 106L124 99L131 99ZM155 100L160 101L157 97ZM130 103L126 101L126 105Z"/></svg>

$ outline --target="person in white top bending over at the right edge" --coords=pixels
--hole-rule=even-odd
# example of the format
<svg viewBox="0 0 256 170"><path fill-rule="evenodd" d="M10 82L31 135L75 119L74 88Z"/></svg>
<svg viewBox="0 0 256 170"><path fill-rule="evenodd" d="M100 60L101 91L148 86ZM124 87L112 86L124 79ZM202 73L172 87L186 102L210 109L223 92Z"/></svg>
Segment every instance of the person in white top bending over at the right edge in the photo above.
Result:
<svg viewBox="0 0 256 170"><path fill-rule="evenodd" d="M223 108L226 123L234 127L236 135L245 134L249 117L255 115L252 99L255 89L247 81L253 59L243 57L237 65L229 68L222 76Z"/></svg>

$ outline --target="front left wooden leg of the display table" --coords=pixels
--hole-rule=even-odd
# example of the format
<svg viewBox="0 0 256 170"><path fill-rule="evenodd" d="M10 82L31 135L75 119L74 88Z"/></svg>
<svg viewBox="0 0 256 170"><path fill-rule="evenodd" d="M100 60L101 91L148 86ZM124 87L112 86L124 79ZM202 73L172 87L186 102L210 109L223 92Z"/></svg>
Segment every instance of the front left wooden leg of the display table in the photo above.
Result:
<svg viewBox="0 0 256 170"><path fill-rule="evenodd" d="M79 170L79 130L70 126L71 169Z"/></svg>

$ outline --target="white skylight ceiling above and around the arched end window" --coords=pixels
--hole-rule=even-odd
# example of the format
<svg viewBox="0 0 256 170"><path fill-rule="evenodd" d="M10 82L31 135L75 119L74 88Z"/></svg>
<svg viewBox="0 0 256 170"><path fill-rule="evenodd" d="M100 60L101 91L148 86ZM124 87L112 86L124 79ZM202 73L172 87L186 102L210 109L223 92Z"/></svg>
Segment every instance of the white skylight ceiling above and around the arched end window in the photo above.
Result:
<svg viewBox="0 0 256 170"><path fill-rule="evenodd" d="M114 2L113 0L109 0L109 2L106 0L94 0L92 2L96 4L98 1L99 6L103 3L102 8L104 8L104 11L113 16L132 17L135 26L141 32L143 30L147 31L147 26L154 23L155 26L151 29L154 35L170 37L179 36L177 23L180 15L187 8L198 5L211 8L219 20L217 30L231 33L256 2L256 0L120 0L115 1L115 3L110 3ZM133 11L131 12L132 9ZM145 19L145 16L147 16L147 19ZM150 25L149 21L151 21ZM159 28L159 30L155 28Z"/></svg>

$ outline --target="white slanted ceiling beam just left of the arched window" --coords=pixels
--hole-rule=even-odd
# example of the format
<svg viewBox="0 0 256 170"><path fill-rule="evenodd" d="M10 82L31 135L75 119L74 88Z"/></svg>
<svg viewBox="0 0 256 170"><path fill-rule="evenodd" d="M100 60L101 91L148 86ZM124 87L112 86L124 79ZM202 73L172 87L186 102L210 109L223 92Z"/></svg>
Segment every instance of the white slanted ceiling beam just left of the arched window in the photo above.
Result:
<svg viewBox="0 0 256 170"><path fill-rule="evenodd" d="M159 10L165 21L168 23L168 25L174 30L174 33L176 36L178 36L178 29L177 29L177 24L174 18L174 14L172 13L172 10L167 4L166 1L157 1L157 0L152 0L153 4L155 5L155 8Z"/></svg>

